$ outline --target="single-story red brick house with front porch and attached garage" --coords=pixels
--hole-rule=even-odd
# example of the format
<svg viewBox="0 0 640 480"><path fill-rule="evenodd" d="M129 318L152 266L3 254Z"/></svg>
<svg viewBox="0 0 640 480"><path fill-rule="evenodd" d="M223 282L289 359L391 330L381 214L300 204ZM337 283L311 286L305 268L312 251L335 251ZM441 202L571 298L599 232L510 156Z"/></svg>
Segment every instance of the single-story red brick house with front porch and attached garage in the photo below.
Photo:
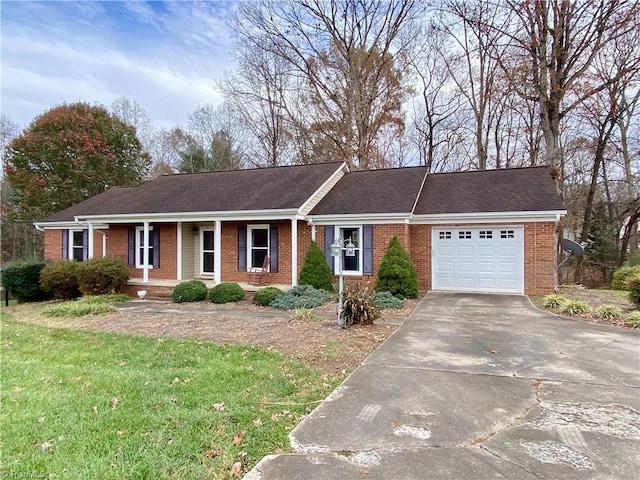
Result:
<svg viewBox="0 0 640 480"><path fill-rule="evenodd" d="M546 167L429 174L349 171L345 163L165 175L116 187L35 223L47 260L121 258L130 289L248 281L296 285L311 240L350 239L349 278L375 281L389 240L413 258L420 289L544 294L556 285L566 213Z"/></svg>

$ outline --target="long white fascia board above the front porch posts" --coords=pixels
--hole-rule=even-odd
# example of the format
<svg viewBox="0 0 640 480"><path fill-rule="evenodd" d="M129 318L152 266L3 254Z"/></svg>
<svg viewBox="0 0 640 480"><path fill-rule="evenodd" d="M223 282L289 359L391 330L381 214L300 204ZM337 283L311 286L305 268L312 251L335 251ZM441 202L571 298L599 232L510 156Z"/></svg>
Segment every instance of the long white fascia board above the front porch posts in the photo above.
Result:
<svg viewBox="0 0 640 480"><path fill-rule="evenodd" d="M134 213L121 215L84 215L76 217L80 222L115 223L174 223L220 221L260 221L303 219L297 209L282 210L240 210L229 212L178 212L178 213Z"/></svg>

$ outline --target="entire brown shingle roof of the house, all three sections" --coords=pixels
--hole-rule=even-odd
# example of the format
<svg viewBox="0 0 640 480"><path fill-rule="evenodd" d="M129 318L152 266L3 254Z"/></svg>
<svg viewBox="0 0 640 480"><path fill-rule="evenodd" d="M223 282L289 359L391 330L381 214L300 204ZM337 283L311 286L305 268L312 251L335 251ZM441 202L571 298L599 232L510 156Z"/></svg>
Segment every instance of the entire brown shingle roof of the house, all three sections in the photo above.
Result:
<svg viewBox="0 0 640 480"><path fill-rule="evenodd" d="M112 188L38 223L75 216L300 208L342 163L166 175ZM547 167L429 174L426 167L347 173L311 215L564 210ZM416 198L419 198L416 202Z"/></svg>

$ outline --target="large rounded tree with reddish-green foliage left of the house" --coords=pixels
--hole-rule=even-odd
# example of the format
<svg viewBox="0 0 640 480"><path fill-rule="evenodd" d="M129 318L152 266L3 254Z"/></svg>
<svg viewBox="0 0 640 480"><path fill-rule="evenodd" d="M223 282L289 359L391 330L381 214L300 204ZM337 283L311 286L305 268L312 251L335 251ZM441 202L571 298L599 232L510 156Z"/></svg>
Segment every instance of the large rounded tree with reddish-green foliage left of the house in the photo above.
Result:
<svg viewBox="0 0 640 480"><path fill-rule="evenodd" d="M110 187L137 185L150 164L135 128L106 108L54 107L9 144L4 171L11 215L38 219Z"/></svg>

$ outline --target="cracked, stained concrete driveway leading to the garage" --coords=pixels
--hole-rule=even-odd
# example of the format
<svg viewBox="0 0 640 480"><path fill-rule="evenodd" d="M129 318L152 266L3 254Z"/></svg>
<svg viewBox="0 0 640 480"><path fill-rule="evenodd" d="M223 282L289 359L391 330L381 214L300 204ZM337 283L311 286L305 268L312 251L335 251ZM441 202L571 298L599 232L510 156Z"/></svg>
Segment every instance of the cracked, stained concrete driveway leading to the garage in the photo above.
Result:
<svg viewBox="0 0 640 480"><path fill-rule="evenodd" d="M429 293L245 478L637 479L640 334Z"/></svg>

